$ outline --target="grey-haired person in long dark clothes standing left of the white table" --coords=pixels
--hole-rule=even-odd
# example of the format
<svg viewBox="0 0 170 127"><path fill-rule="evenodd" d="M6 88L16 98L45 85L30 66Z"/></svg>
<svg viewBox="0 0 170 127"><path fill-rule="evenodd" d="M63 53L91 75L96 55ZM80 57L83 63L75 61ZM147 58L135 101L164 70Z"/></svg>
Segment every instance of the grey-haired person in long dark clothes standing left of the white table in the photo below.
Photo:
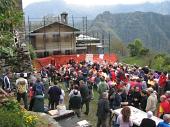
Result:
<svg viewBox="0 0 170 127"><path fill-rule="evenodd" d="M109 101L108 101L108 93L104 92L102 94L102 98L98 102L97 107L97 127L108 127L107 118L109 113Z"/></svg>

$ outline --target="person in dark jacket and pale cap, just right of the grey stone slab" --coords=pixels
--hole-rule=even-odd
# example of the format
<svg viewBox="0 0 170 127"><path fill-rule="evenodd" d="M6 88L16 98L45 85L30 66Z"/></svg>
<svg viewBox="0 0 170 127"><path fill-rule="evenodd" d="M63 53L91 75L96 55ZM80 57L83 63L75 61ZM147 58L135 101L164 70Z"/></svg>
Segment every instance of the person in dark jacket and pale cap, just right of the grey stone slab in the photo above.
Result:
<svg viewBox="0 0 170 127"><path fill-rule="evenodd" d="M78 90L74 90L73 95L70 97L70 100L69 100L69 109L74 110L74 112L76 113L78 117L81 116L81 112L80 112L81 102L82 102L82 99L81 99L81 96L78 95Z"/></svg>

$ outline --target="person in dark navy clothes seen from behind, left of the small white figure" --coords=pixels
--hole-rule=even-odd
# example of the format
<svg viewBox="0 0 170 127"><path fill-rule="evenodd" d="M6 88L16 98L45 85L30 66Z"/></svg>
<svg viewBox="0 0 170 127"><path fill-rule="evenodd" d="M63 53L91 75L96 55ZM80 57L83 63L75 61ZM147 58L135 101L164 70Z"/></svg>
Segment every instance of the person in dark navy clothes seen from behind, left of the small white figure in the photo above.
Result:
<svg viewBox="0 0 170 127"><path fill-rule="evenodd" d="M57 85L53 85L50 87L48 94L49 94L49 108L53 110L59 104L60 95L62 94L62 92Z"/></svg>

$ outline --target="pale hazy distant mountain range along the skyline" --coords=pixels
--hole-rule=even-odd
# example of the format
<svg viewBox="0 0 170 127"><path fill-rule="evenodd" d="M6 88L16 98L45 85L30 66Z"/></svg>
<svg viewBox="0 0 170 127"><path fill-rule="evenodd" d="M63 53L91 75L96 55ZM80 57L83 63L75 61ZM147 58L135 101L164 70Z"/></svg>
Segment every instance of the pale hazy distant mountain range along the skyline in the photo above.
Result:
<svg viewBox="0 0 170 127"><path fill-rule="evenodd" d="M104 11L112 13L127 13L134 11L156 12L170 14L170 1L162 0L160 3L144 3L135 5L108 5L108 6L78 6L67 4L64 0L50 0L46 2L32 3L24 8L25 17L42 18L47 15L58 15L61 12L68 12L75 17L87 16L95 18L97 14Z"/></svg>

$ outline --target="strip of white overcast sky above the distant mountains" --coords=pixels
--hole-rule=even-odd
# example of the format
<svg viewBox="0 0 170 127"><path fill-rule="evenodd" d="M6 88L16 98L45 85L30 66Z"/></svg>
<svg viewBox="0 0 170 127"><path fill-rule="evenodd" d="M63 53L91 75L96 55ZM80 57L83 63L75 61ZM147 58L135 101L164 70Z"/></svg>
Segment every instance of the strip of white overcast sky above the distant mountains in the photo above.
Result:
<svg viewBox="0 0 170 127"><path fill-rule="evenodd" d="M23 8L35 2L50 1L50 0L22 0ZM165 0L64 0L67 4L76 4L83 6L93 5L115 5L115 4L139 4L144 2L161 2Z"/></svg>

